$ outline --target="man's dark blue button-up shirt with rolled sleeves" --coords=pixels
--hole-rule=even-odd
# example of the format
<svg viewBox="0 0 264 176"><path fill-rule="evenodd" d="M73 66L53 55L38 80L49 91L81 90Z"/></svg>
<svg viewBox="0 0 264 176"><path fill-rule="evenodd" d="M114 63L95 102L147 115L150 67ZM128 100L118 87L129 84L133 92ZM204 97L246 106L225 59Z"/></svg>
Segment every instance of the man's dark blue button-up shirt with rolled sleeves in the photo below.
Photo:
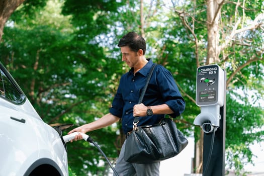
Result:
<svg viewBox="0 0 264 176"><path fill-rule="evenodd" d="M152 60L133 74L134 68L122 75L110 113L122 118L122 128L126 134L133 129L133 107L138 104L145 85ZM173 111L169 114L175 118L185 109L185 101L173 79L172 74L162 65L156 65L149 81L142 103L145 106L166 104ZM158 123L165 115L152 115L139 118L138 126Z"/></svg>

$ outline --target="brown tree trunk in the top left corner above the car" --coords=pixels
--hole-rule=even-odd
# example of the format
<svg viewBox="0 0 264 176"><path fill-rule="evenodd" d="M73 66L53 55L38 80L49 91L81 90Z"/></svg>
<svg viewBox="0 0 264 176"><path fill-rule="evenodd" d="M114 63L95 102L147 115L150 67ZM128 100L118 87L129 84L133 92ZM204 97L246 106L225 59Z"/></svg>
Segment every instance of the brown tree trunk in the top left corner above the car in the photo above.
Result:
<svg viewBox="0 0 264 176"><path fill-rule="evenodd" d="M3 30L7 20L24 1L25 0L0 0L0 42L4 34Z"/></svg>

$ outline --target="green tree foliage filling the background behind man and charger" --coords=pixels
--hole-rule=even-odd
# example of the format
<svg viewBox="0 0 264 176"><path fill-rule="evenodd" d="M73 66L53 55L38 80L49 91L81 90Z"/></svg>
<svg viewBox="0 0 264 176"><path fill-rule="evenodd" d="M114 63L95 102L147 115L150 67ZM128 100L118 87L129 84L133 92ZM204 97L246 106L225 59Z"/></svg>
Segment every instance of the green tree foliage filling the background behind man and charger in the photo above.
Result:
<svg viewBox="0 0 264 176"><path fill-rule="evenodd" d="M200 113L195 104L196 69L206 63L207 7L202 0L177 3L144 3L142 25L138 1L26 1L4 29L1 61L45 122L73 123L76 127L108 113L120 76L129 69L121 61L117 43L128 31L141 33L143 28L146 57L172 72L186 100L185 112L175 120L177 126L186 135L194 133L197 141L200 128L193 125ZM261 1L246 1L244 7L237 1L223 6L219 45L229 39L238 19L244 20L238 25L242 29L263 13ZM252 159L248 146L263 140L263 131L256 129L263 126L264 113L256 102L264 95L264 38L261 28L234 38L221 50L217 64L227 71L229 79L228 166L241 172L244 162ZM122 144L120 134L120 123L89 133L113 162ZM109 170L92 144L77 141L67 143L67 147L70 175L104 175Z"/></svg>

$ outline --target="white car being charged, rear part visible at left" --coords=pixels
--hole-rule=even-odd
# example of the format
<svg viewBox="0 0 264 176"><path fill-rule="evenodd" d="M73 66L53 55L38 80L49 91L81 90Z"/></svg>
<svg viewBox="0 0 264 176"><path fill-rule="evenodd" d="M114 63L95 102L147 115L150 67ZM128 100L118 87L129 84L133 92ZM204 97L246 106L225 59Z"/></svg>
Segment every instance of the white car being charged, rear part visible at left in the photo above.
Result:
<svg viewBox="0 0 264 176"><path fill-rule="evenodd" d="M60 129L43 122L1 62L0 69L0 175L68 175Z"/></svg>

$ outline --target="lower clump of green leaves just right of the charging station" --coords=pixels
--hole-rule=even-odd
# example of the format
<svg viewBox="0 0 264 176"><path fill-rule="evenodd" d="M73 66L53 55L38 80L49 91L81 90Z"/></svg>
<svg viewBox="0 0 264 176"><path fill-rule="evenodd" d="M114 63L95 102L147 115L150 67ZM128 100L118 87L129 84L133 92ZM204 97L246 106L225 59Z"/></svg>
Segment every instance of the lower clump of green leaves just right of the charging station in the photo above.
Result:
<svg viewBox="0 0 264 176"><path fill-rule="evenodd" d="M251 101L241 93L230 92L228 94L226 157L227 166L234 167L236 174L243 172L244 164L252 163L253 154L249 145L264 139L264 131L261 131L264 123L263 114L263 109L252 107Z"/></svg>

